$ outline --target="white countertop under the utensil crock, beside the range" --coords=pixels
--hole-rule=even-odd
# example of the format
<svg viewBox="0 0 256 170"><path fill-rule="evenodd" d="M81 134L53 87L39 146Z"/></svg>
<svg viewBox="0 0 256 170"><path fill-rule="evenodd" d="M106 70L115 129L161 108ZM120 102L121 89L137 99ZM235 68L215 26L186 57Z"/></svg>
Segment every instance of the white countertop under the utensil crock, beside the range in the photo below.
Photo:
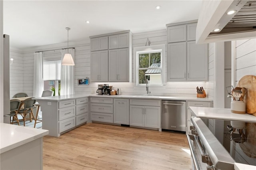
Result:
<svg viewBox="0 0 256 170"><path fill-rule="evenodd" d="M242 121L256 123L256 116L250 114L231 113L230 109L215 107L191 107L194 116L207 119L220 119L226 121Z"/></svg>

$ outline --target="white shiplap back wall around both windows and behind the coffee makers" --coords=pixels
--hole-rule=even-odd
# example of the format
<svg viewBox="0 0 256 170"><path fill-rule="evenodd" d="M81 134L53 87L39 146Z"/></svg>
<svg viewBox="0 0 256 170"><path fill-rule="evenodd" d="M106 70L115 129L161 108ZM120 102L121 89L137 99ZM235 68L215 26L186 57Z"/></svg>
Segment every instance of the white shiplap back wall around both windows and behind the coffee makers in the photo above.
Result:
<svg viewBox="0 0 256 170"><path fill-rule="evenodd" d="M142 32L133 34L132 47L145 46L147 38L150 40L150 45L167 44L166 42L166 30L157 30L152 32ZM66 45L66 44L65 44ZM50 45L49 48L52 49ZM65 47L65 46L64 46ZM79 94L93 94L96 93L97 85L108 83L113 86L113 89L121 88L122 94L146 94L145 87L136 87L133 82L126 83L111 83L111 82L90 82L90 43L77 43L72 45L75 47L75 93ZM58 48L62 48L58 46ZM166 48L167 49L167 48ZM47 50L37 48L34 51ZM25 52L23 54L23 92L28 95L33 95L33 76L34 76L34 51ZM44 52L44 57L52 57L53 55L60 55L60 51L47 51ZM166 52L167 55L167 52ZM167 61L166 56L165 61ZM132 56L133 61L133 56ZM167 67L167 65L165 65ZM133 69L133 63L132 63ZM167 69L166 69L167 70ZM133 71L132 71L133 73ZM89 85L78 85L77 79L84 79L89 77ZM133 77L133 76L132 76ZM186 95L195 96L196 87L206 87L206 82L167 82L164 86L152 87L149 86L149 90L152 95ZM206 89L207 90L207 89ZM14 93L13 90L11 93Z"/></svg>

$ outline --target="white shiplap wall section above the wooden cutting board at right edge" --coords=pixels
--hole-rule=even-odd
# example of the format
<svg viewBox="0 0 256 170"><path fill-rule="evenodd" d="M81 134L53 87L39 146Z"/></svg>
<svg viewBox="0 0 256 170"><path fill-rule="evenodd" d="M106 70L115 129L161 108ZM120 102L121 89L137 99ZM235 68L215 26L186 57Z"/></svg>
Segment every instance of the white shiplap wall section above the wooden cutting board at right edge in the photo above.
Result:
<svg viewBox="0 0 256 170"><path fill-rule="evenodd" d="M234 86L244 75L256 75L256 39L234 43Z"/></svg>

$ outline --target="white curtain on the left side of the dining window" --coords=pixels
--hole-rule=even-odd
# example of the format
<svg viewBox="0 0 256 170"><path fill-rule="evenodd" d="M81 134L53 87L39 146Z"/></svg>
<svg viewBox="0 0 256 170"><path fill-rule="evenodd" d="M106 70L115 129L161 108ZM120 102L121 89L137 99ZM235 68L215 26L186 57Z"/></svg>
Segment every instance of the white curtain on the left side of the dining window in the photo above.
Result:
<svg viewBox="0 0 256 170"><path fill-rule="evenodd" d="M44 91L43 53L34 53L34 97L41 97Z"/></svg>

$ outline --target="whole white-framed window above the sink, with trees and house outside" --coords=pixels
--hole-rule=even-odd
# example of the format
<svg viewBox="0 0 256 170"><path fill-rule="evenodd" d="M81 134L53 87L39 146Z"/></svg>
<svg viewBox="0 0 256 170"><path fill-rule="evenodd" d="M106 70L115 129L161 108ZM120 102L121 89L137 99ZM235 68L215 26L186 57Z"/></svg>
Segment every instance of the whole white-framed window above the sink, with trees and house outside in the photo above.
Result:
<svg viewBox="0 0 256 170"><path fill-rule="evenodd" d="M145 85L146 79L152 85L163 85L165 81L165 45L134 48L134 82Z"/></svg>

